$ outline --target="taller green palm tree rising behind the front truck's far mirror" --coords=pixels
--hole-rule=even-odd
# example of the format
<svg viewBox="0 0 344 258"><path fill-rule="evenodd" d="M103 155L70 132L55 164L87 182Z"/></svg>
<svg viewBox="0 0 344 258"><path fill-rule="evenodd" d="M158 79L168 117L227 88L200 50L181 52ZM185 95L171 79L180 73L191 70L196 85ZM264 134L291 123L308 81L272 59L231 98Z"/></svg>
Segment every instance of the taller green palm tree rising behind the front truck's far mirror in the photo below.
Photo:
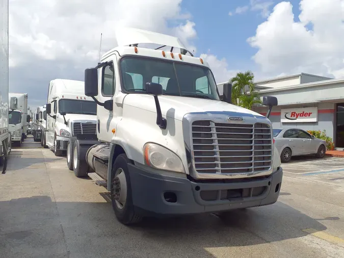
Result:
<svg viewBox="0 0 344 258"><path fill-rule="evenodd" d="M246 72L238 72L236 75L229 80L232 84L232 103L237 103L237 99L242 95L246 94L246 87L249 88L250 92L253 92L255 85L253 83L254 74L250 70Z"/></svg>

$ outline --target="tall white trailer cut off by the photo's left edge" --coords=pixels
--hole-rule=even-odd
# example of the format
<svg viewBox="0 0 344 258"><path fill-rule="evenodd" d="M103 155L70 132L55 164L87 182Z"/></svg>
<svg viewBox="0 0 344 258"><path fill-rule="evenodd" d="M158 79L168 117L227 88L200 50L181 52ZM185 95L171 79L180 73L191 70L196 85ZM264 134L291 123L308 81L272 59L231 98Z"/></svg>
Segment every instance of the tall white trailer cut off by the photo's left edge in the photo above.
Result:
<svg viewBox="0 0 344 258"><path fill-rule="evenodd" d="M0 0L0 173L5 174L11 150L8 112L8 0Z"/></svg>

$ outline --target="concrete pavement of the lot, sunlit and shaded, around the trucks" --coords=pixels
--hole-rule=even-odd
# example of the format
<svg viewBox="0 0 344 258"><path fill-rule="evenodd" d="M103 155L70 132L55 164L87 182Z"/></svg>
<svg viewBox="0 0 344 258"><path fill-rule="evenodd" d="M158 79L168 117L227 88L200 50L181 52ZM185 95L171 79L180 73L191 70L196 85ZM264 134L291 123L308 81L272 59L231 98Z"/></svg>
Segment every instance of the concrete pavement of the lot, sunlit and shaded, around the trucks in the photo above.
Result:
<svg viewBox="0 0 344 258"><path fill-rule="evenodd" d="M128 227L65 158L13 149L0 177L0 257L344 257L343 181L340 171L285 173L273 205Z"/></svg>

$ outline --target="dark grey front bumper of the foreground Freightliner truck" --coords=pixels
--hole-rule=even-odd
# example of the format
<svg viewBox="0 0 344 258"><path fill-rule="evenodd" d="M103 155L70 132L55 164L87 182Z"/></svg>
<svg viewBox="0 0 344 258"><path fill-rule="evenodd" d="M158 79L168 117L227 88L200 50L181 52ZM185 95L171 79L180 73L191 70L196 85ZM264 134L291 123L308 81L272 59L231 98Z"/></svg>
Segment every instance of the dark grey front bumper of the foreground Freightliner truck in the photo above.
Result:
<svg viewBox="0 0 344 258"><path fill-rule="evenodd" d="M198 183L188 178L151 173L128 164L133 204L145 215L221 212L268 205L277 201L283 171L263 178L230 183ZM168 193L168 194L165 194ZM172 193L172 195L171 195ZM176 197L169 202L164 197Z"/></svg>

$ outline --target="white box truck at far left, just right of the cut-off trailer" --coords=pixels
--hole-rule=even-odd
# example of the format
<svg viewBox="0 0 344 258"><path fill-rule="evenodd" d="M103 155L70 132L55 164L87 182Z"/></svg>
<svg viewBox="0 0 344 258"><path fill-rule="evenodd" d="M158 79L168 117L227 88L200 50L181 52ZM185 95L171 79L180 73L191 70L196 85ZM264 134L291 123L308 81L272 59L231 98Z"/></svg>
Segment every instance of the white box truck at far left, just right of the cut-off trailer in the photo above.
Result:
<svg viewBox="0 0 344 258"><path fill-rule="evenodd" d="M10 132L12 141L21 144L28 136L28 123L30 116L28 114L28 93L10 93L9 98L13 103L14 111L10 111ZM14 113L13 113L14 112ZM19 119L20 113L20 119ZM18 133L20 131L20 139Z"/></svg>

